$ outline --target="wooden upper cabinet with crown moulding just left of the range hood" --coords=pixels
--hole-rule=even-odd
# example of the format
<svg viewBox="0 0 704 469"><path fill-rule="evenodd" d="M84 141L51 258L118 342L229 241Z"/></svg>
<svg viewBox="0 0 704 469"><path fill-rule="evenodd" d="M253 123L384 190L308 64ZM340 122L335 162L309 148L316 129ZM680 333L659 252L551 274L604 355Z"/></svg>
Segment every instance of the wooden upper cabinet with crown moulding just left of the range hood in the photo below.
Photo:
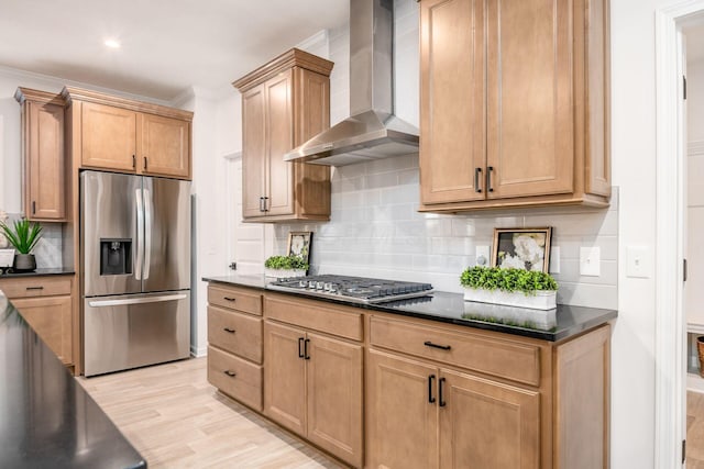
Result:
<svg viewBox="0 0 704 469"><path fill-rule="evenodd" d="M330 126L332 63L290 49L240 78L248 222L330 219L330 168L284 154Z"/></svg>

